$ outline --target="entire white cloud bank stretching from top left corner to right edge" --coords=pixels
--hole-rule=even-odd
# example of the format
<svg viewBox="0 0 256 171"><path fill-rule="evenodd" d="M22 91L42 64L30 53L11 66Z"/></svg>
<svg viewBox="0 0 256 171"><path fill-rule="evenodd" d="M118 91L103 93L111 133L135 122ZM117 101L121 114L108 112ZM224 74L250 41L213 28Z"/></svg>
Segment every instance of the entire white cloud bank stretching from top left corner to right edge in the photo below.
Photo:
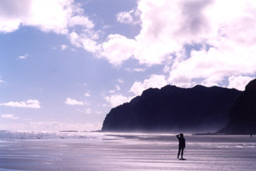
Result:
<svg viewBox="0 0 256 171"><path fill-rule="evenodd" d="M233 77L253 78L256 73L255 10L254 0L141 0L134 10L116 14L122 24L134 24L136 15L141 26L138 35L127 38L112 33L102 41L102 31L95 30L95 23L74 0L2 0L0 31L34 26L66 34L71 44L114 66L131 58L146 66L166 65L167 83L172 85L242 89ZM81 27L81 32L75 27Z"/></svg>

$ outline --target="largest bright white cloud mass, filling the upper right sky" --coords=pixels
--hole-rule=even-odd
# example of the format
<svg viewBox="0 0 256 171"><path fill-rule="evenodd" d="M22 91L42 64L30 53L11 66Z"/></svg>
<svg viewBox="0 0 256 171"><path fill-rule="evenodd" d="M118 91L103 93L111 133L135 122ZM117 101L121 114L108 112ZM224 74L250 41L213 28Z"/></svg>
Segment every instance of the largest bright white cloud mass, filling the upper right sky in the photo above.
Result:
<svg viewBox="0 0 256 171"><path fill-rule="evenodd" d="M233 75L256 73L255 10L254 0L139 1L140 33L110 34L103 54L115 66L130 58L148 66L167 62L174 85L223 85Z"/></svg>

